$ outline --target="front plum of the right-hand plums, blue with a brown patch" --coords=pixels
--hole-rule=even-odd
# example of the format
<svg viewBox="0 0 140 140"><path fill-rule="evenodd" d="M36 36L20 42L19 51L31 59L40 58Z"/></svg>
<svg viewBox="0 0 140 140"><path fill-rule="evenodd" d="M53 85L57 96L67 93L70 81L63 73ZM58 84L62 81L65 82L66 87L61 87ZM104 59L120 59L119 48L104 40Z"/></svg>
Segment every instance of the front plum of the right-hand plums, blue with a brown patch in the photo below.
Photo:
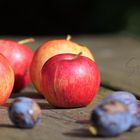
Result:
<svg viewBox="0 0 140 140"><path fill-rule="evenodd" d="M100 136L119 135L130 129L132 123L133 116L128 106L118 100L100 104L91 113L91 127Z"/></svg>

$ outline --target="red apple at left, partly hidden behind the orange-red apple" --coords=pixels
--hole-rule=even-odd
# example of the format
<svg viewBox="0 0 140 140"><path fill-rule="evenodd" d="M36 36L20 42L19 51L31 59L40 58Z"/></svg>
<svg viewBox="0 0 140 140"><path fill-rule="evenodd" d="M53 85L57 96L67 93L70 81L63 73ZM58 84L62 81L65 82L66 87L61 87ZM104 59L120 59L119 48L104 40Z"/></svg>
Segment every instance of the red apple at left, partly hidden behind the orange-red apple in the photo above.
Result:
<svg viewBox="0 0 140 140"><path fill-rule="evenodd" d="M17 41L0 40L0 53L11 63L15 73L13 92L18 92L30 83L29 67L33 51Z"/></svg>

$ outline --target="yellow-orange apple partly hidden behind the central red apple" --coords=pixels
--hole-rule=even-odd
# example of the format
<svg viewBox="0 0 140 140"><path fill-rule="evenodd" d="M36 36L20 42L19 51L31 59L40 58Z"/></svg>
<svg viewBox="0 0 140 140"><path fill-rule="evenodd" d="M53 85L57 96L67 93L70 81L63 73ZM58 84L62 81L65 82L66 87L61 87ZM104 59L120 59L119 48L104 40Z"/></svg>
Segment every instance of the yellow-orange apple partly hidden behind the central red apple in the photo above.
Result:
<svg viewBox="0 0 140 140"><path fill-rule="evenodd" d="M30 77L34 87L41 91L41 69L44 63L54 55L62 53L78 54L82 52L83 56L87 56L94 60L90 50L70 40L50 40L43 43L34 53L34 57L30 67Z"/></svg>

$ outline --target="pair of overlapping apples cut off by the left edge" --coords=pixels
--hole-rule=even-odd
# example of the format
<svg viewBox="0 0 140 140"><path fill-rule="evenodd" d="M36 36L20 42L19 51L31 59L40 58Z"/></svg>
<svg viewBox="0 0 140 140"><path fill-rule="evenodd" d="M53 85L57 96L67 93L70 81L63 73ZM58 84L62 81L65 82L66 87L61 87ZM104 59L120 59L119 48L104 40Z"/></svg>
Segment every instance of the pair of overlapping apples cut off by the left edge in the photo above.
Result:
<svg viewBox="0 0 140 140"><path fill-rule="evenodd" d="M19 92L30 83L29 68L33 51L23 45L34 39L22 41L0 40L0 105L12 92Z"/></svg>

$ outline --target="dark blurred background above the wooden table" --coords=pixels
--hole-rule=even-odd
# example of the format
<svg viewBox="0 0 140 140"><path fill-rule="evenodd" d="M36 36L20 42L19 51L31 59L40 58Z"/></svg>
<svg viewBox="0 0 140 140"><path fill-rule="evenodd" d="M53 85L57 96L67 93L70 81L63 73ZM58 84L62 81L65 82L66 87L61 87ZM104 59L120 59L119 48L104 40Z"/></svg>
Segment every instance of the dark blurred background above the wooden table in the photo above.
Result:
<svg viewBox="0 0 140 140"><path fill-rule="evenodd" d="M5 0L0 6L0 34L140 35L138 0Z"/></svg>

